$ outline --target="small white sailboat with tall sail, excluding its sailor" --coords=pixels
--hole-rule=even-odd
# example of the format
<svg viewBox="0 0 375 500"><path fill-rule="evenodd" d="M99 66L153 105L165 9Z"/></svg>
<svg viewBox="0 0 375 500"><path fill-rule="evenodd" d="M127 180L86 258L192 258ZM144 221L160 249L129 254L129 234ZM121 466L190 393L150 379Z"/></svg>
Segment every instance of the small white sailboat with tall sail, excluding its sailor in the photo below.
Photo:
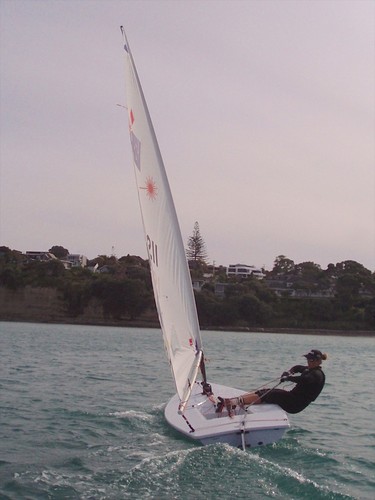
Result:
<svg viewBox="0 0 375 500"><path fill-rule="evenodd" d="M207 379L197 310L185 248L166 170L124 29L130 144L152 285L164 347L176 385L165 407L167 422L204 445L254 447L278 441L289 427L276 405L217 412L218 396L245 391Z"/></svg>

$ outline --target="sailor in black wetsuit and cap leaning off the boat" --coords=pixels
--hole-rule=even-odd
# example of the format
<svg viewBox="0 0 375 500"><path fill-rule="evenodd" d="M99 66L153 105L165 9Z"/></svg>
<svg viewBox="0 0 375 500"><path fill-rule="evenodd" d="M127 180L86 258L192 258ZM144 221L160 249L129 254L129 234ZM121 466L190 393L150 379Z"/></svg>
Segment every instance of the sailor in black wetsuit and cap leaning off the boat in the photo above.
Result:
<svg viewBox="0 0 375 500"><path fill-rule="evenodd" d="M296 365L288 372L281 375L280 382L294 382L296 385L291 391L284 389L260 389L249 392L238 398L219 398L216 412L220 413L224 406L230 417L234 415L236 406L248 406L252 404L277 404L287 413L299 413L304 410L321 393L325 375L321 369L322 361L327 359L327 354L312 349L304 354L307 366ZM295 376L295 373L300 375Z"/></svg>

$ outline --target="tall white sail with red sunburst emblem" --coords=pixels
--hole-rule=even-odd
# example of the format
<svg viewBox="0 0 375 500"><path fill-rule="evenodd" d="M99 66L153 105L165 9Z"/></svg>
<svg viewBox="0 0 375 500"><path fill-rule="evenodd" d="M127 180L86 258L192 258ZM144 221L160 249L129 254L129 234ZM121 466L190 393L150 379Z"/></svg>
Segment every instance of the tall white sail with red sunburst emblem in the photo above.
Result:
<svg viewBox="0 0 375 500"><path fill-rule="evenodd" d="M156 307L182 411L198 373L202 342L171 190L124 31L123 35L129 132L138 198Z"/></svg>

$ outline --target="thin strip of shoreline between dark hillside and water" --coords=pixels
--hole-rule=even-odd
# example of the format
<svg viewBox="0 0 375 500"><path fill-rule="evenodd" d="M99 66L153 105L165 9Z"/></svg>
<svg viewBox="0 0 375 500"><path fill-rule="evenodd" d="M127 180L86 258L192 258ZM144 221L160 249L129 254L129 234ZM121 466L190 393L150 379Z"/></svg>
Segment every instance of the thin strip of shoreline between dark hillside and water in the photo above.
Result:
<svg viewBox="0 0 375 500"><path fill-rule="evenodd" d="M118 328L154 328L160 329L160 324L154 321L145 320L118 320L118 321L77 321L66 318L50 319L43 321L41 318L37 319L15 319L15 318L0 318L0 322L9 323L40 323L40 324L61 324L61 325L78 325L78 326L100 326L100 327L118 327ZM267 328L267 327L201 327L201 331L217 331L217 332L243 332L243 333L275 333L275 334L289 334L289 335L332 335L337 337L375 337L375 330L329 330L325 328Z"/></svg>

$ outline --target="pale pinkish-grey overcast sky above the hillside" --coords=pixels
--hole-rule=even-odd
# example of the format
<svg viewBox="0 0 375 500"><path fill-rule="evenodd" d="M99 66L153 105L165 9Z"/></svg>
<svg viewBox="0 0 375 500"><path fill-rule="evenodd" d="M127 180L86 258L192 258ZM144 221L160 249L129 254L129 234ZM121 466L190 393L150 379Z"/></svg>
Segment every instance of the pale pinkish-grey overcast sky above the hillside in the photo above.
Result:
<svg viewBox="0 0 375 500"><path fill-rule="evenodd" d="M1 5L0 244L146 258L124 25L183 239L375 270L375 2Z"/></svg>

